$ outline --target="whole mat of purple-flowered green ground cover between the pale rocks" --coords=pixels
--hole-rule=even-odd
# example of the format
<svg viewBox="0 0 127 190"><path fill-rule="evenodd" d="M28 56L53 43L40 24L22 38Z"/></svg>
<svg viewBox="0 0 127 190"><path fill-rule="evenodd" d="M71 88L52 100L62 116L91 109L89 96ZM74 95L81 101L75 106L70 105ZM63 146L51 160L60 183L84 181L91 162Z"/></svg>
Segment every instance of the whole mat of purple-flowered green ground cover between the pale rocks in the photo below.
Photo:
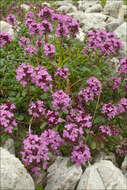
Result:
<svg viewBox="0 0 127 190"><path fill-rule="evenodd" d="M127 57L113 32L91 30L47 6L8 13L0 33L0 133L37 177L52 155L86 165L97 152L127 152ZM112 57L119 58L117 71Z"/></svg>

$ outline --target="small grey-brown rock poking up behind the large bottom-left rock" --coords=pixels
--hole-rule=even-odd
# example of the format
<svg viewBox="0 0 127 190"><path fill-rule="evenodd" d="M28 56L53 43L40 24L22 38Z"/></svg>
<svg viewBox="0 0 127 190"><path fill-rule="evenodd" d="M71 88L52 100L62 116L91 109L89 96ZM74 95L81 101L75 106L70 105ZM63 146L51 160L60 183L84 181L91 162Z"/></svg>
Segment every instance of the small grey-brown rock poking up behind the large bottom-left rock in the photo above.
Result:
<svg viewBox="0 0 127 190"><path fill-rule="evenodd" d="M12 138L7 139L7 141L5 141L3 148L5 148L6 150L8 150L10 152L10 154L14 154L15 155L15 146L14 146L14 140Z"/></svg>

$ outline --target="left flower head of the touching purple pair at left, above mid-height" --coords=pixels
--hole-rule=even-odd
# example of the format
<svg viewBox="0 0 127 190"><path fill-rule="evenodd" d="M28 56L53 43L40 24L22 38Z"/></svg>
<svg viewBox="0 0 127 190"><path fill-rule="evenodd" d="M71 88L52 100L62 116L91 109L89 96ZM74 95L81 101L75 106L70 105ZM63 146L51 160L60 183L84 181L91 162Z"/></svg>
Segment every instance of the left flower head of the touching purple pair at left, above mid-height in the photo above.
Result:
<svg viewBox="0 0 127 190"><path fill-rule="evenodd" d="M16 79L22 84L22 86L27 86L29 82L35 77L35 72L33 66L22 63L16 70Z"/></svg>

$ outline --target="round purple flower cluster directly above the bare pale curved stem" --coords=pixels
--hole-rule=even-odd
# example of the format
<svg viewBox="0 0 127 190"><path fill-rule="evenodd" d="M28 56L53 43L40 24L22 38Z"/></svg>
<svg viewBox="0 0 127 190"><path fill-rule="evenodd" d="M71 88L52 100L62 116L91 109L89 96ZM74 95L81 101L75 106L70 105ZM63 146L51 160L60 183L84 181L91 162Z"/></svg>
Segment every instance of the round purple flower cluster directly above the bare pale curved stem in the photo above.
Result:
<svg viewBox="0 0 127 190"><path fill-rule="evenodd" d="M43 117L45 115L46 108L44 106L43 101L37 100L36 103L32 102L29 105L28 112L30 115L32 115L34 118Z"/></svg>

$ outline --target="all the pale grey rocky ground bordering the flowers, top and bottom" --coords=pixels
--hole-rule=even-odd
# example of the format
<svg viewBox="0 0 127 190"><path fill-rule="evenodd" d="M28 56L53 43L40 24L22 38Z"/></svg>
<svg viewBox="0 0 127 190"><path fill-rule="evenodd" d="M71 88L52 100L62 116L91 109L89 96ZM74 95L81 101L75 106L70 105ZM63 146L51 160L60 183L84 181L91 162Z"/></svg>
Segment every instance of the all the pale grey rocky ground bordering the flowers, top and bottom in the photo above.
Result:
<svg viewBox="0 0 127 190"><path fill-rule="evenodd" d="M49 3L44 3L48 4ZM110 0L104 9L99 0L71 0L57 1L54 6L79 20L80 32L77 38L84 40L84 35L91 29L106 29L114 32L123 43L123 54L127 53L127 6L121 0ZM22 4L23 9L29 6ZM0 21L0 31L13 35L14 31L8 23ZM114 58L114 62L117 59ZM8 151L7 151L7 150ZM116 162L115 155L106 155L101 152L93 160L93 165L81 168L76 165L67 167L68 158L58 157L49 167L47 173L42 172L37 180L33 181L26 169L15 157L14 142L9 139L1 155L1 190L34 190L35 185L46 186L45 190L124 190L127 189L127 156L121 166ZM119 167L119 168L118 168Z"/></svg>

